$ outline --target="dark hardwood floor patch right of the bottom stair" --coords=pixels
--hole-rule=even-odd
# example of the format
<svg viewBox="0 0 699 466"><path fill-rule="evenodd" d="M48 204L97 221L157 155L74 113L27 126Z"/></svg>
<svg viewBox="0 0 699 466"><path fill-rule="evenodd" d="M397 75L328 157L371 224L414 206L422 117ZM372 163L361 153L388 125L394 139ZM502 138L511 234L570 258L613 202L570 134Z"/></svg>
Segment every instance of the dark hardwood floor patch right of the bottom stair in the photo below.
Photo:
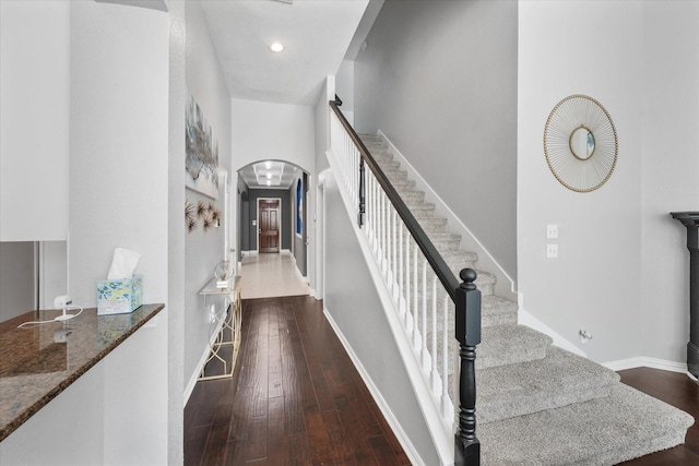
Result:
<svg viewBox="0 0 699 466"><path fill-rule="evenodd" d="M627 385L695 417L695 425L687 430L684 444L621 464L624 466L699 466L699 383L684 373L650 368L619 371L619 375L621 375L621 382Z"/></svg>

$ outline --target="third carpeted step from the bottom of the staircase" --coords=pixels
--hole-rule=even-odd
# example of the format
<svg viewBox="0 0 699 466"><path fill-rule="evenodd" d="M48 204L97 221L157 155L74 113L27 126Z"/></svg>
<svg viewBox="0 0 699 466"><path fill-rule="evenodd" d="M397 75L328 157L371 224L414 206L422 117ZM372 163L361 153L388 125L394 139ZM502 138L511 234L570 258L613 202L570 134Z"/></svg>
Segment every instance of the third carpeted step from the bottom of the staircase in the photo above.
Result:
<svg viewBox="0 0 699 466"><path fill-rule="evenodd" d="M483 328L476 350L476 369L543 359L552 338L524 325L496 325Z"/></svg>

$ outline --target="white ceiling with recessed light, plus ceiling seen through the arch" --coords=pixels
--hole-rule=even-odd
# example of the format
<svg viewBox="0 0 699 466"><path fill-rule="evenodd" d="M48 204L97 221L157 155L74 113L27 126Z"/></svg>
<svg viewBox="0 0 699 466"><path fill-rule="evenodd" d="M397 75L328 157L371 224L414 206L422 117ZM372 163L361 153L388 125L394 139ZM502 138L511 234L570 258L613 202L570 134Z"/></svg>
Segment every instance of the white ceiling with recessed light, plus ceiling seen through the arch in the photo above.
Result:
<svg viewBox="0 0 699 466"><path fill-rule="evenodd" d="M356 56L383 0L371 0L370 8L369 0L201 3L232 98L315 106L325 77L336 74L347 50ZM284 45L282 52L270 50L274 41ZM289 189L298 168L279 160L271 167L251 164L238 172L249 188Z"/></svg>

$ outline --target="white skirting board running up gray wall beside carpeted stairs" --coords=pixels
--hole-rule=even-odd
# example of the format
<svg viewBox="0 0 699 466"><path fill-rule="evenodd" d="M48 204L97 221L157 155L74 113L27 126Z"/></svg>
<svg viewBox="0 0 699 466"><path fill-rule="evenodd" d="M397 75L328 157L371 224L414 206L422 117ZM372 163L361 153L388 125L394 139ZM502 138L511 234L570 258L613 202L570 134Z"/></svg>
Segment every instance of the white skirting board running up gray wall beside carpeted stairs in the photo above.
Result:
<svg viewBox="0 0 699 466"><path fill-rule="evenodd" d="M447 225L452 234L461 235L461 249L465 251L472 251L478 254L478 266L488 271L497 277L495 284L495 295L500 298L517 302L518 295L516 291L514 280L505 272L500 264L493 258L488 250L478 241L478 239L471 232L471 230L461 222L461 219L453 213L451 208L442 201L442 199L433 190L433 188L425 181L419 172L411 165L410 162L403 156L401 151L393 145L393 143L383 134L381 130L377 131L377 135L383 140L394 159L401 163L401 169L407 171L407 178L415 181L415 189L425 192L425 202L435 204L436 216L447 218Z"/></svg>

